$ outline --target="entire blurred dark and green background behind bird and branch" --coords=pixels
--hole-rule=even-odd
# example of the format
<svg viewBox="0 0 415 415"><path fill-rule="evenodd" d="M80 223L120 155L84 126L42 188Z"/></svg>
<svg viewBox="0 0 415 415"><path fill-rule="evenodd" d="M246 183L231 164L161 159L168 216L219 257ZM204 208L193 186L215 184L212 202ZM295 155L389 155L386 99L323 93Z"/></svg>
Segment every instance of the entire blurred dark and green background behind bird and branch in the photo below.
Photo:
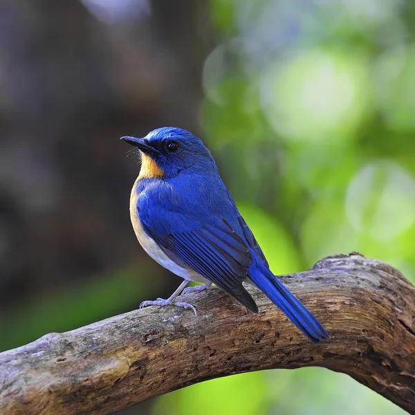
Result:
<svg viewBox="0 0 415 415"><path fill-rule="evenodd" d="M358 250L415 282L409 0L1 0L0 350L165 297L129 223L119 142L190 129L275 273ZM120 414L402 414L309 368Z"/></svg>

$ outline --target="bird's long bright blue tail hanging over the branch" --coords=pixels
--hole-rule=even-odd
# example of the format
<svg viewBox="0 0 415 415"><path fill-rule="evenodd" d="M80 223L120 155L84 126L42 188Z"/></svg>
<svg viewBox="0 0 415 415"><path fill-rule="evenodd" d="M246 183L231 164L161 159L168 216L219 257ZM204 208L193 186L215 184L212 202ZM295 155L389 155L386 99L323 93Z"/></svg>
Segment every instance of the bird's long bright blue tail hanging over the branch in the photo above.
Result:
<svg viewBox="0 0 415 415"><path fill-rule="evenodd" d="M252 282L301 330L312 342L328 340L329 333L299 300L280 282L264 263L255 258L248 275Z"/></svg>

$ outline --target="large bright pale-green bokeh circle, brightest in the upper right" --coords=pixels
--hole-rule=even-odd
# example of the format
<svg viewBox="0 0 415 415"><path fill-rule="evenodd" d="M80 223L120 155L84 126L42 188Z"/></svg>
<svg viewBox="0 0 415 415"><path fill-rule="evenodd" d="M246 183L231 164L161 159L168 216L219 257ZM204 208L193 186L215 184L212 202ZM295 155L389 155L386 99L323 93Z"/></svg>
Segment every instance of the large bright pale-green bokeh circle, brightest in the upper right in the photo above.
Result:
<svg viewBox="0 0 415 415"><path fill-rule="evenodd" d="M270 125L287 142L351 140L367 110L367 68L358 54L308 50L270 65L261 85Z"/></svg>

